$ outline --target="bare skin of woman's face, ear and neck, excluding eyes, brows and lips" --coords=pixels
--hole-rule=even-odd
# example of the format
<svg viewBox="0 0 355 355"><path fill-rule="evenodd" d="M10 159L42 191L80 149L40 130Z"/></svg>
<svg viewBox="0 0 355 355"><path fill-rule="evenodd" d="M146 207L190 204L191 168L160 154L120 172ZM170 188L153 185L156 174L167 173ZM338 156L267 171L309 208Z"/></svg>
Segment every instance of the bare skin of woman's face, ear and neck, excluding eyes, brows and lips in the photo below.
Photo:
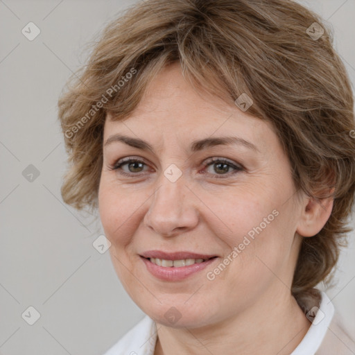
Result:
<svg viewBox="0 0 355 355"><path fill-rule="evenodd" d="M119 141L105 146L117 133L144 139L154 152ZM259 152L241 145L189 150L193 140L231 135ZM157 322L155 354L290 354L311 324L290 291L300 242L322 229L333 203L321 206L295 190L270 123L196 92L173 64L150 83L127 119L107 115L103 141L101 223L125 290ZM123 157L144 164L112 170ZM223 172L218 162L207 166L210 157L243 169ZM182 172L175 182L164 176L171 164ZM274 210L279 214L262 232L214 280L207 279ZM146 269L139 254L147 250L218 258L187 279L166 282ZM171 307L181 315L174 324L164 316Z"/></svg>

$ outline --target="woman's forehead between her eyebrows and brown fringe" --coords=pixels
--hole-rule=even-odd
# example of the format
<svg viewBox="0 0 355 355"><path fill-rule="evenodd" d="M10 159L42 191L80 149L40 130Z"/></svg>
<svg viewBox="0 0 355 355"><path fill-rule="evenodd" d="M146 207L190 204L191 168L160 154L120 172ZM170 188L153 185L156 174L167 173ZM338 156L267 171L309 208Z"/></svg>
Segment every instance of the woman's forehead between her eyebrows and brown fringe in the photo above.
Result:
<svg viewBox="0 0 355 355"><path fill-rule="evenodd" d="M267 121L242 112L232 99L229 105L196 89L182 76L180 66L172 65L150 81L129 116L115 121L107 114L104 139L119 132L160 145L175 138L191 144L196 139L238 135L262 149L266 130L270 130Z"/></svg>

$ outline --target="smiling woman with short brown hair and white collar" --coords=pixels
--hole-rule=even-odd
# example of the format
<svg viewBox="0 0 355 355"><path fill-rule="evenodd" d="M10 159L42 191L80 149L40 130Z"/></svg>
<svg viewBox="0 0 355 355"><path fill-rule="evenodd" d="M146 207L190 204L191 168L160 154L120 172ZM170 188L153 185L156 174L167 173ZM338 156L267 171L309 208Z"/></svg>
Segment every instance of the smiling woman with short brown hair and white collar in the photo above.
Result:
<svg viewBox="0 0 355 355"><path fill-rule="evenodd" d="M354 354L315 286L351 229L352 89L284 0L150 0L60 98L65 202L146 318L106 353Z"/></svg>

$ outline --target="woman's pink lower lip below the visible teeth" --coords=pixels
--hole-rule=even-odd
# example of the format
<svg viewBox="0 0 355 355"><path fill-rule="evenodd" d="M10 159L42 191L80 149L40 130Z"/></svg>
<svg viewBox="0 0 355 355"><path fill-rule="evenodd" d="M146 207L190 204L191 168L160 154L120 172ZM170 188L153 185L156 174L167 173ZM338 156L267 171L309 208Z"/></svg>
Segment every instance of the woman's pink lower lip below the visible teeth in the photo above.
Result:
<svg viewBox="0 0 355 355"><path fill-rule="evenodd" d="M164 266L152 263L149 259L144 257L141 257L141 259L146 264L148 271L158 279L162 279L164 281L179 281L203 270L218 258L209 259L207 261L203 261L202 263L194 263L189 266L181 266L180 268L175 268L174 266L165 268Z"/></svg>

